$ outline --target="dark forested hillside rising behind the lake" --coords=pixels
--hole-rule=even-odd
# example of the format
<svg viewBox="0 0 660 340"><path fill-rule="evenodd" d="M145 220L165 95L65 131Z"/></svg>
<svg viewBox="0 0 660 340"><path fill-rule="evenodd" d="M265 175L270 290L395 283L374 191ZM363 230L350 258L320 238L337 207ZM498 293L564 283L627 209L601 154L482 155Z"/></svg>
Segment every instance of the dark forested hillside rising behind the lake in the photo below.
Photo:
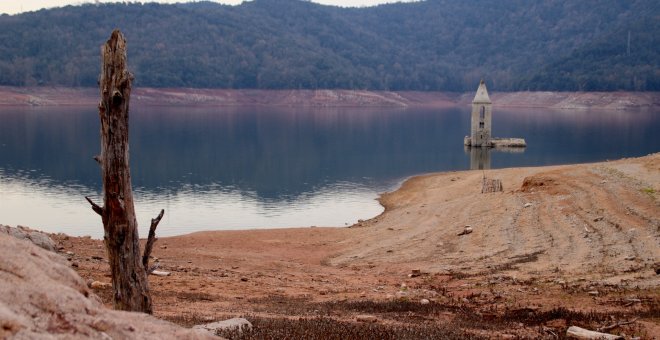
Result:
<svg viewBox="0 0 660 340"><path fill-rule="evenodd" d="M114 28L138 86L660 90L657 0L68 6L0 16L0 85L95 86Z"/></svg>

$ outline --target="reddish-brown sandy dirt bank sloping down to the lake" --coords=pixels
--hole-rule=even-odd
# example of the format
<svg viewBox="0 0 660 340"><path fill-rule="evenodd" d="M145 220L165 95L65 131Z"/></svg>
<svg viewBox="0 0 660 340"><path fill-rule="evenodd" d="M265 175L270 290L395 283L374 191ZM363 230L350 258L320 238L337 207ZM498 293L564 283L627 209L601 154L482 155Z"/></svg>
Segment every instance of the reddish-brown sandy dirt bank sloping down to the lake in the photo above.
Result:
<svg viewBox="0 0 660 340"><path fill-rule="evenodd" d="M482 194L483 176L504 191ZM578 325L658 338L659 192L660 153L438 173L383 195L386 211L350 228L161 238L154 256L172 274L151 276L156 316L443 338L554 339ZM85 280L110 282L100 241L55 239ZM109 301L109 288L96 293ZM358 321L365 314L375 322Z"/></svg>

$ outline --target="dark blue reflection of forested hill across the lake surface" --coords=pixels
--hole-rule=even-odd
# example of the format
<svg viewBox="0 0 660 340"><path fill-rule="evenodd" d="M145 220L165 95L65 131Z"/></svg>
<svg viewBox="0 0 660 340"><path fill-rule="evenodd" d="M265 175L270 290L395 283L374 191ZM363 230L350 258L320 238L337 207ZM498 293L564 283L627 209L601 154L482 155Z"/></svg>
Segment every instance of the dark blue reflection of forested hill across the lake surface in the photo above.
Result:
<svg viewBox="0 0 660 340"><path fill-rule="evenodd" d="M296 199L337 182L378 186L467 169L469 108L318 110L142 108L131 113L131 171L143 192L231 188L259 200ZM94 109L0 112L3 177L99 191ZM654 112L498 109L494 134L520 136L524 155L498 152L492 168L597 161L660 150ZM41 179L46 179L41 181Z"/></svg>

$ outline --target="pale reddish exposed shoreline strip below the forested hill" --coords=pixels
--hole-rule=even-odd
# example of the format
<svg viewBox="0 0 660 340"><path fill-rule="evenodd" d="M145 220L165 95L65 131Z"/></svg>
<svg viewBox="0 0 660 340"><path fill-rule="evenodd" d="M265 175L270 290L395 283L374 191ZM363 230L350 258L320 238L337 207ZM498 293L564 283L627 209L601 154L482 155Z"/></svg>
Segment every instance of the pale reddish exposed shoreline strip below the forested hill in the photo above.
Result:
<svg viewBox="0 0 660 340"><path fill-rule="evenodd" d="M271 107L427 107L468 105L474 93L361 90L135 88L133 105ZM0 86L3 106L96 106L96 88ZM660 92L493 92L495 107L627 110L660 108Z"/></svg>

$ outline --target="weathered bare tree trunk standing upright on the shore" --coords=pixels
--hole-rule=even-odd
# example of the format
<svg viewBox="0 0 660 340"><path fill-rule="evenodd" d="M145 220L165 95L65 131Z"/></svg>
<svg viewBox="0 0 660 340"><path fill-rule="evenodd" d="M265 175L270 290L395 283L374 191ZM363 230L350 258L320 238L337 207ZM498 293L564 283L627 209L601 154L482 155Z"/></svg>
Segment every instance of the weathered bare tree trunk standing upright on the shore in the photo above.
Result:
<svg viewBox="0 0 660 340"><path fill-rule="evenodd" d="M101 57L101 155L95 159L102 169L103 207L87 200L103 220L115 309L152 313L146 269L163 212L152 220L149 246L140 256L128 163L128 109L133 75L126 67L126 40L119 30L113 31L101 47Z"/></svg>

